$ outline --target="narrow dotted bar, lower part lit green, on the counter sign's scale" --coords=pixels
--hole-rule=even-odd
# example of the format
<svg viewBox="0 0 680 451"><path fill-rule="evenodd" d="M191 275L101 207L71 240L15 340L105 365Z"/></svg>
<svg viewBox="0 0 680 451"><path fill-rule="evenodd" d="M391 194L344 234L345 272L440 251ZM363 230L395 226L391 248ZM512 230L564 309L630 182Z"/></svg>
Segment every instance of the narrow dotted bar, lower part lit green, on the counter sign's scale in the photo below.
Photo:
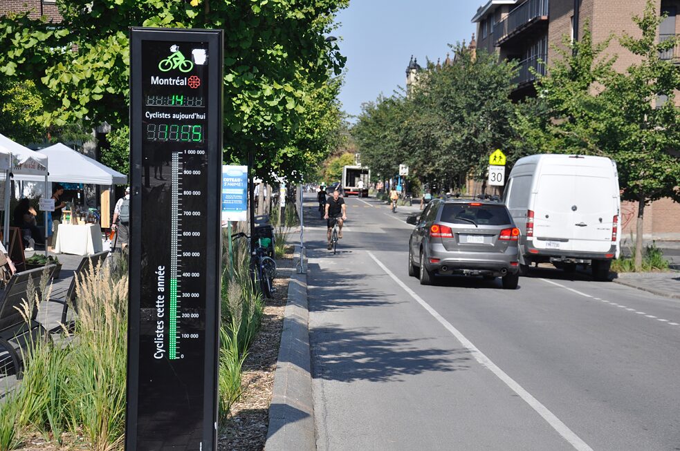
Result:
<svg viewBox="0 0 680 451"><path fill-rule="evenodd" d="M168 358L177 356L177 258L179 253L179 153L172 153L172 183L170 191L170 311L168 329Z"/></svg>

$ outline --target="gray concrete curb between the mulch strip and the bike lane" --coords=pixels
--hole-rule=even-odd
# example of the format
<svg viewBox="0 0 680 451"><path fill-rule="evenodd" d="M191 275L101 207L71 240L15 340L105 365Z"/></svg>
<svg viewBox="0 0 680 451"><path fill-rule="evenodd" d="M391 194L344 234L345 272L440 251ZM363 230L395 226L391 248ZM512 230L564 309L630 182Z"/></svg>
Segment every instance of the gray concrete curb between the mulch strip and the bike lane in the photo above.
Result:
<svg viewBox="0 0 680 451"><path fill-rule="evenodd" d="M300 246L295 247L295 253L300 253ZM264 448L316 450L306 274L293 273L288 285Z"/></svg>

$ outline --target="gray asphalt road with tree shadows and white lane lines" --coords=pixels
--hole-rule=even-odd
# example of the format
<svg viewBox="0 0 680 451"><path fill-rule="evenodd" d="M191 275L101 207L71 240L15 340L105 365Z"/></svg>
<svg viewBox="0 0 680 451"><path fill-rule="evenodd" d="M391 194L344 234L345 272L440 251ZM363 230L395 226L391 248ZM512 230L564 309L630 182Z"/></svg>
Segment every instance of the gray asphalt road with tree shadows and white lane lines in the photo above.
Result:
<svg viewBox="0 0 680 451"><path fill-rule="evenodd" d="M538 269L407 276L412 226L349 198L338 254L306 200L319 450L680 450L680 302Z"/></svg>

